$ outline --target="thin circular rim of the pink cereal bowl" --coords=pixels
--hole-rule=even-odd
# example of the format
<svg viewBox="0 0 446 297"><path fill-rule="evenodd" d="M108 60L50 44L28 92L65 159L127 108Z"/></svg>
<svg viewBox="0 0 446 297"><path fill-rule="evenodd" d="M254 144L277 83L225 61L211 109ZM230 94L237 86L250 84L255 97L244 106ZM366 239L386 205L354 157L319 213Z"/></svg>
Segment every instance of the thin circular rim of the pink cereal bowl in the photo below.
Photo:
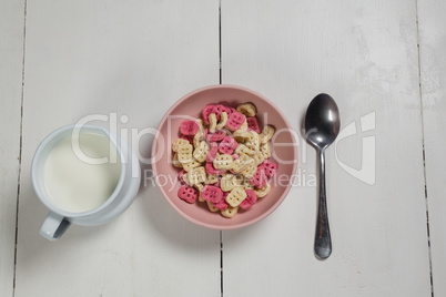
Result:
<svg viewBox="0 0 446 297"><path fill-rule="evenodd" d="M163 117L161 119L158 127L156 127L156 134L160 133L161 127L164 125L164 122L166 121L168 116L172 113L172 111L174 109L176 109L178 105L180 105L183 101L185 101L187 98L191 98L197 93L207 91L207 90L212 90L212 89L235 89L235 90L240 90L240 91L244 91L247 93L251 93L260 99L262 99L263 101L265 101L266 103L268 103L270 105L272 105L277 113L282 116L283 121L285 122L285 125L287 129L292 130L292 126L290 125L288 120L286 119L285 114L268 99L266 99L265 96L263 96L262 94L244 88L244 86L240 86L240 85L235 85L235 84L212 84L212 85L207 85L207 86L202 86L199 88L192 92L189 92L187 94L183 95L181 99L179 99L163 115ZM292 141L293 141L293 151L294 151L294 156L295 158L297 158L297 145L296 145L296 140L294 137L294 134L291 134ZM151 158L154 160L155 157L155 147L156 147L156 143L158 143L158 139L159 137L154 137L153 143L152 143L152 152L151 152ZM297 162L293 163L293 168L292 168L292 175L295 174L296 172L296 167L297 167ZM153 176L158 175L158 168L156 168L156 162L152 164L152 171L153 171ZM186 218L187 221L199 225L199 226L203 226L203 227L207 227L211 229L219 229L219 231L223 231L223 229L237 229L237 228L242 228L242 227L246 227L249 225L252 225L254 223L257 223L260 221L262 221L263 218L267 217L270 214L272 214L277 207L278 205L282 204L282 202L285 199L285 197L287 196L287 194L291 191L292 184L290 183L285 191L282 193L281 197L278 197L278 199L276 201L276 203L274 203L274 205L272 207L270 207L266 212L262 213L261 215L243 222L243 223L239 223L239 224L233 224L233 225L225 225L225 226L221 226L217 224L209 224L209 223L203 223L201 221L195 219L194 217L191 217L189 214L184 213L183 211L181 211L170 198L168 193L165 193L164 187L162 186L156 186L161 194L163 195L163 197L168 201L168 203L172 206L173 209L175 209L176 213L179 213L182 217Z"/></svg>

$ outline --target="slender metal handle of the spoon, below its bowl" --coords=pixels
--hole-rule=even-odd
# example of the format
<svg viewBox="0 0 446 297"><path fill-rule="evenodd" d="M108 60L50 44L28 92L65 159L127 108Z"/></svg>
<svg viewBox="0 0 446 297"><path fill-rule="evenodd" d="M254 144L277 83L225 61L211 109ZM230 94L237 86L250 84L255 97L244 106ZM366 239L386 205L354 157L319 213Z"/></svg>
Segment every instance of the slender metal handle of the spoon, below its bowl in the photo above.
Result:
<svg viewBox="0 0 446 297"><path fill-rule="evenodd" d="M330 236L327 202L325 194L325 148L320 150L321 176L320 176L320 203L317 209L316 236L314 239L314 253L321 259L328 258L332 254L332 238Z"/></svg>

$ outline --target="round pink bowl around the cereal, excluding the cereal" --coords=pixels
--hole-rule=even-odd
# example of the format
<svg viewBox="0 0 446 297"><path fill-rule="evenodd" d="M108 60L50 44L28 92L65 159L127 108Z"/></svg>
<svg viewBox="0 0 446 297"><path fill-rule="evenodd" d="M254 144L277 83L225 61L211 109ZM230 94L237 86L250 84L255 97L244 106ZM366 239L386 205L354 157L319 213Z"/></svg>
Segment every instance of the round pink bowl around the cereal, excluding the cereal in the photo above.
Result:
<svg viewBox="0 0 446 297"><path fill-rule="evenodd" d="M201 112L207 104L224 104L235 107L240 103L252 102L257 107L261 130L267 123L275 127L272 139L272 158L278 164L275 177L271 181L271 192L251 208L239 213L233 218L225 218L220 213L207 209L206 203L196 201L189 204L178 197L180 168L172 165L172 142L176 140L180 124L192 117L202 117ZM169 204L186 219L213 229L240 228L261 221L270 215L285 198L292 186L292 176L296 171L297 150L294 132L285 115L267 99L245 88L236 85L211 85L193 91L180 99L165 113L158 127L152 146L153 174L158 186Z"/></svg>

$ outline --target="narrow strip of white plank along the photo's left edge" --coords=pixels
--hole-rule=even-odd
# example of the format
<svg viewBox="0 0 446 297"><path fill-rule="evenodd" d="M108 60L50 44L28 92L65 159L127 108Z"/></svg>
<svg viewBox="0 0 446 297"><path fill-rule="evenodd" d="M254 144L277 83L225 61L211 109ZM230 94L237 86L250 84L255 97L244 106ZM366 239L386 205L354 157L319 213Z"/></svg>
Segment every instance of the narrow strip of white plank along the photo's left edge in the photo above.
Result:
<svg viewBox="0 0 446 297"><path fill-rule="evenodd" d="M0 296L13 295L24 1L0 10Z"/></svg>

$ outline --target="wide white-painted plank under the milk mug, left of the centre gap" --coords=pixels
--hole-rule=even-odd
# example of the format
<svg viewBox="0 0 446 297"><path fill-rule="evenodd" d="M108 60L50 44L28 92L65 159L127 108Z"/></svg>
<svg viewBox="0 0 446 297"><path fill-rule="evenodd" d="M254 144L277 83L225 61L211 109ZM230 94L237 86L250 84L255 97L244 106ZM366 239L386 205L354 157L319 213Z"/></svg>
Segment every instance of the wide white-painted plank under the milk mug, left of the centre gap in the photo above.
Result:
<svg viewBox="0 0 446 297"><path fill-rule="evenodd" d="M219 83L217 13L200 0L28 3L17 297L220 296L220 233L180 217L151 180L115 221L71 226L55 243L38 235L47 209L30 181L34 150L57 127L102 114L93 123L116 116L131 137ZM134 148L149 157L151 142Z"/></svg>

